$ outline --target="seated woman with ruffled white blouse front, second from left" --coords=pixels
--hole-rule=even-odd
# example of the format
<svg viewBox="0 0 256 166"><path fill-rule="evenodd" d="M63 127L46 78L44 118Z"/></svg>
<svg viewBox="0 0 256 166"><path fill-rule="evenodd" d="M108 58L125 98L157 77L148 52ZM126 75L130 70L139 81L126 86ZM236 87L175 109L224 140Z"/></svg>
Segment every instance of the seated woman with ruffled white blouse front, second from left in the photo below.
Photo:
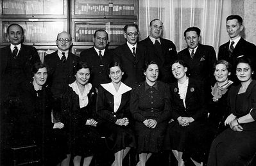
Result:
<svg viewBox="0 0 256 166"><path fill-rule="evenodd" d="M71 137L71 155L74 166L89 166L99 149L101 137L96 129L96 89L89 83L90 66L87 63L76 64L76 80L69 84L63 97L63 107L69 112Z"/></svg>

